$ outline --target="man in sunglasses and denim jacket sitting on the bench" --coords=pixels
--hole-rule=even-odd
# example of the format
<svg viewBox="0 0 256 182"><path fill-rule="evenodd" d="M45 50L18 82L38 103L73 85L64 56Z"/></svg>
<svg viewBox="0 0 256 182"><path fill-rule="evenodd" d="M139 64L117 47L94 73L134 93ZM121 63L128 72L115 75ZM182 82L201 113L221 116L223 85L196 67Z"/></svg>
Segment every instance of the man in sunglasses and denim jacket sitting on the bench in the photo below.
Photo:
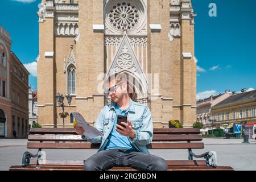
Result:
<svg viewBox="0 0 256 182"><path fill-rule="evenodd" d="M126 74L115 74L108 79L108 94L112 104L106 105L98 115L96 129L104 133L90 143L101 143L96 154L84 161L85 171L105 171L112 167L133 167L143 171L166 171L164 159L151 155L147 144L152 142L153 123L150 109L130 98ZM105 91L106 93L106 91ZM127 123L117 125L118 115L126 115ZM76 126L76 133L84 135Z"/></svg>

